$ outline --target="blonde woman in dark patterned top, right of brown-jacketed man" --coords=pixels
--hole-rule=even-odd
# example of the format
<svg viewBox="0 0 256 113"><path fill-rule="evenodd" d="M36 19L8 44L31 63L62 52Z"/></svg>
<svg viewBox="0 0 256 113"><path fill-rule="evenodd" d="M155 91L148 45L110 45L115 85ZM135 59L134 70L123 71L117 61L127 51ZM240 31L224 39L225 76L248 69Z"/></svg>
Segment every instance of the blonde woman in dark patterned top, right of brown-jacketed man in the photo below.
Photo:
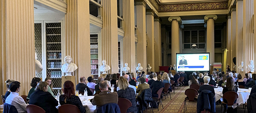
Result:
<svg viewBox="0 0 256 113"><path fill-rule="evenodd" d="M137 104L136 104L136 101L135 101L135 95L134 95L135 91L134 91L134 89L128 87L129 83L123 77L119 78L119 80L117 82L117 85L120 89L120 90L117 91L118 98L128 99L132 103L132 106L129 107L126 112L127 113L130 113L130 112L137 113L137 107L136 107Z"/></svg>

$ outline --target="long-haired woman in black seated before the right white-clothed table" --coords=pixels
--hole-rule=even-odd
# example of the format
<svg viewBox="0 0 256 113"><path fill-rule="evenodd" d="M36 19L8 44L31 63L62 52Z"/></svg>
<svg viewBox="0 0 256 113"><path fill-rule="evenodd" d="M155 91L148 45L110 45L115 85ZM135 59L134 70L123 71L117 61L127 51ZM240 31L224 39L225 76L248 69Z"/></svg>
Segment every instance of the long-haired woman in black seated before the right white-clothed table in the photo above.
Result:
<svg viewBox="0 0 256 113"><path fill-rule="evenodd" d="M227 78L227 82L226 82L226 87L223 88L222 90L222 94L225 94L228 91L234 91L237 92L237 87L234 86L234 82L233 82L233 78L232 77L228 77ZM227 100L223 99L224 103L228 103ZM236 100L234 101L234 103L236 103ZM224 113L227 111L228 106L226 104L223 104L224 106Z"/></svg>

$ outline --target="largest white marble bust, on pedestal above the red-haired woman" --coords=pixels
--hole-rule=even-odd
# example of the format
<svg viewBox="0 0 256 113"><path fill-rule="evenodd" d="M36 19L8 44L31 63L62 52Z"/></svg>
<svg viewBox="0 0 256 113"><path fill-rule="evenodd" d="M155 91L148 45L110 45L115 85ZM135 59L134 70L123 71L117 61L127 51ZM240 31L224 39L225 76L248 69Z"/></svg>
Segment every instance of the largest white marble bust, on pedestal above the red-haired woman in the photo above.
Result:
<svg viewBox="0 0 256 113"><path fill-rule="evenodd" d="M72 58L71 56L65 56L64 61L66 62L66 64L64 64L61 67L61 71L63 73L66 73L65 76L72 76L71 72L74 72L77 69L77 65L72 62Z"/></svg>

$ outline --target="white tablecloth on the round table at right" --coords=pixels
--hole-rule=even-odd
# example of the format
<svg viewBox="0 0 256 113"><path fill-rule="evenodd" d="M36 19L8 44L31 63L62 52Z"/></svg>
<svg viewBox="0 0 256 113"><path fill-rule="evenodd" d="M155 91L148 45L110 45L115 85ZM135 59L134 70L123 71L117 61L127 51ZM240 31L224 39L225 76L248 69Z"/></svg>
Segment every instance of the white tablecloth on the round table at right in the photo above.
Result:
<svg viewBox="0 0 256 113"><path fill-rule="evenodd" d="M218 91L218 88L214 88L215 90L215 101L218 101L219 99L221 99L223 97L222 91ZM238 91L238 99L236 100L236 102L238 103L238 105L242 105L244 103L247 102L247 99L249 99L249 95L250 92L248 89L241 89L241 91ZM246 91L246 92L243 92ZM233 106L233 108L236 108L236 106Z"/></svg>

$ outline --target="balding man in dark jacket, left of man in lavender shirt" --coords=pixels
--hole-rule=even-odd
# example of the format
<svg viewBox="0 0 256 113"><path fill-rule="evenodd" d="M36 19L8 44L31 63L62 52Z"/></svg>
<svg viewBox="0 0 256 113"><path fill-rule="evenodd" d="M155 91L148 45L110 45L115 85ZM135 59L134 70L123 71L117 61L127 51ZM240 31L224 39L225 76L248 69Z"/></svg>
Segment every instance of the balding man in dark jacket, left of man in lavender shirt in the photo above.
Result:
<svg viewBox="0 0 256 113"><path fill-rule="evenodd" d="M92 96L94 92L92 92L88 86L86 86L86 79L85 77L80 77L80 82L76 86L76 90L84 92L85 88L87 89L87 95Z"/></svg>

